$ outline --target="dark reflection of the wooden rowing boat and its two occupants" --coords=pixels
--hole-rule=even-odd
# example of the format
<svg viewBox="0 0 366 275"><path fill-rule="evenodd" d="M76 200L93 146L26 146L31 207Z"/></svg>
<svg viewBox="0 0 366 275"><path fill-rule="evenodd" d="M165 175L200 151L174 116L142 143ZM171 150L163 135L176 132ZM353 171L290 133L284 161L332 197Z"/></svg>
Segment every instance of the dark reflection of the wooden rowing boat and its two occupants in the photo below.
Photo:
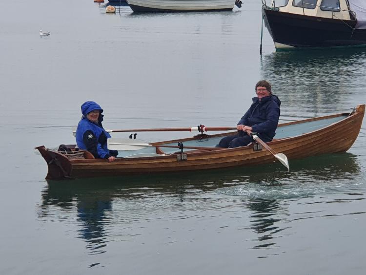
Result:
<svg viewBox="0 0 366 275"><path fill-rule="evenodd" d="M337 181L352 182L350 178L360 174L360 167L357 156L342 153L296 160L292 163L290 175L281 171L275 173L268 171L269 169L263 167L253 167L250 175L241 168L235 168L180 173L164 177L125 176L79 179L65 181L62 184L58 181L48 181L48 185L41 193L38 213L41 220L52 222L70 223L74 217L75 223L79 226L78 237L85 240L86 248L90 253L98 254L106 251L107 238L111 234L110 224L112 222L125 224L126 217L118 213L131 205L134 206L134 211L136 211L136 205L140 205L144 212L146 207L148 209L156 207L156 201L163 200L164 197L173 198L176 201L187 201L192 196L197 198L203 194L204 197L205 193L214 190L231 189L235 192L237 187L245 188L253 184L261 190L283 188L288 193L293 189L294 196L298 197L301 187L297 183L301 180L323 182L324 185ZM233 197L231 193L229 195ZM283 230L276 224L278 224L278 213L286 211L282 203L286 198L288 197L285 195L262 198L249 196L238 200L241 207L251 212L250 228L258 234L258 239L253 241L269 240L274 238L278 231ZM200 204L203 203L201 199L199 201ZM139 204L139 202L145 203ZM193 201L188 202L188 204L193 203ZM180 211L183 210L180 209ZM169 210L167 209L166 212ZM131 217L131 219L134 218ZM272 243L267 242L265 245L270 246ZM263 248L263 246L259 243L255 248Z"/></svg>

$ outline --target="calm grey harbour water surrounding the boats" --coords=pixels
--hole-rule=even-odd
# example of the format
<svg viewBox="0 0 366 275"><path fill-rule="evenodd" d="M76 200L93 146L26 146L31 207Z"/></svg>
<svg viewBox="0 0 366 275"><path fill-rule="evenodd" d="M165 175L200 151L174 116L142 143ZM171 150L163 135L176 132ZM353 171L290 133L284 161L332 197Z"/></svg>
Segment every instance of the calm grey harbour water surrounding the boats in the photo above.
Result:
<svg viewBox="0 0 366 275"><path fill-rule="evenodd" d="M366 102L366 49L279 53L264 29L261 58L260 0L217 13L107 4L0 3L0 274L364 274L365 122L347 153L290 172L44 180L33 148L74 143L87 100L107 128L235 126L260 79L282 121Z"/></svg>

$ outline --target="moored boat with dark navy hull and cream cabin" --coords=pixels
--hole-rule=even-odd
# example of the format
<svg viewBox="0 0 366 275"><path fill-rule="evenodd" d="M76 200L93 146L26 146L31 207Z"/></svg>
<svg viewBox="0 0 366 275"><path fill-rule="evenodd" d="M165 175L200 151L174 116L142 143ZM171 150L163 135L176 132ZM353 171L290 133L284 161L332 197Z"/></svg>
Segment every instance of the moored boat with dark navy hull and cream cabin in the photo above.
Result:
<svg viewBox="0 0 366 275"><path fill-rule="evenodd" d="M262 3L265 26L278 51L366 46L365 0L262 0Z"/></svg>

